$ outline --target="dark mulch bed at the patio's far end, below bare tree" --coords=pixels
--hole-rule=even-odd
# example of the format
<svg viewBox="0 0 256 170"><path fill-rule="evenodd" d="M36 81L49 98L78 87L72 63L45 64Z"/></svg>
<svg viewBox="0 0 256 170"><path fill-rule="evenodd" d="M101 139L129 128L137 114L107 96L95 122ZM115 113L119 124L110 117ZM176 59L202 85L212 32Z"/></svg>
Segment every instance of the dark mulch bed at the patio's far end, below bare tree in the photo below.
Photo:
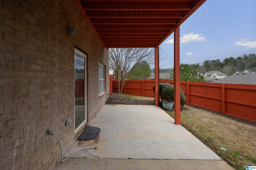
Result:
<svg viewBox="0 0 256 170"><path fill-rule="evenodd" d="M139 101L129 99L127 97L121 97L118 93L110 93L106 104L110 105L154 105L154 101Z"/></svg>

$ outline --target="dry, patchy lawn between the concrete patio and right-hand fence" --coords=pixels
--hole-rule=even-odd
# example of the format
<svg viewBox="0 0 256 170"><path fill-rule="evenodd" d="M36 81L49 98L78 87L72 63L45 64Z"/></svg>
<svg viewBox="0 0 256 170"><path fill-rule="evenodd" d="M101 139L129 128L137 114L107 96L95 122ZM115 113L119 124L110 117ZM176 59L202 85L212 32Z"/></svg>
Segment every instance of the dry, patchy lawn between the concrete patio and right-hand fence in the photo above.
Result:
<svg viewBox="0 0 256 170"><path fill-rule="evenodd" d="M184 106L182 126L233 168L256 166L256 123L242 123L203 109ZM174 111L166 111L174 118ZM220 148L226 148L227 151Z"/></svg>

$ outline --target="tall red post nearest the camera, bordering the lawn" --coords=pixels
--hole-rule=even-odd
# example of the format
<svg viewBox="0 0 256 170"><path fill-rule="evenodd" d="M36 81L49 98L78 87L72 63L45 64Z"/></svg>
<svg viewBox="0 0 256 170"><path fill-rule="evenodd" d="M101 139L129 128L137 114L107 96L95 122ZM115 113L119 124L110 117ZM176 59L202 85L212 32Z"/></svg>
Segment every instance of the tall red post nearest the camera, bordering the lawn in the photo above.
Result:
<svg viewBox="0 0 256 170"><path fill-rule="evenodd" d="M180 125L180 26L174 29L174 120Z"/></svg>

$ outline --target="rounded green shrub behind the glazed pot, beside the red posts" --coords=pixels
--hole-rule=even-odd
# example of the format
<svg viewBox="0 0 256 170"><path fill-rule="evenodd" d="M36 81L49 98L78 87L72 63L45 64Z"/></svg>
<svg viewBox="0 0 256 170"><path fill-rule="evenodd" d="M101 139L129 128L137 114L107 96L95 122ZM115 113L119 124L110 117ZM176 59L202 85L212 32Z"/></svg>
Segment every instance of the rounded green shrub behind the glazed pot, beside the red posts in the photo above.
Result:
<svg viewBox="0 0 256 170"><path fill-rule="evenodd" d="M153 91L155 93L155 85L153 86ZM161 95L163 100L174 101L174 86L170 83L159 83L159 95ZM184 106L186 101L187 98L185 97L182 89L180 88L180 106Z"/></svg>

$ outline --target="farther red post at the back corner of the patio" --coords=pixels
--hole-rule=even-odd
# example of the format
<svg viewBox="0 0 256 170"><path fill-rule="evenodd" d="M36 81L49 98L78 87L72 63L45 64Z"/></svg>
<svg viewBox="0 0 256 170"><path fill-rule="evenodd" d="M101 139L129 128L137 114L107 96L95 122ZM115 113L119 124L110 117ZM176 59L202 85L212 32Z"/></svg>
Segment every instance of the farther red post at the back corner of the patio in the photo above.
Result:
<svg viewBox="0 0 256 170"><path fill-rule="evenodd" d="M159 47L155 47L155 105L158 106L159 100Z"/></svg>

